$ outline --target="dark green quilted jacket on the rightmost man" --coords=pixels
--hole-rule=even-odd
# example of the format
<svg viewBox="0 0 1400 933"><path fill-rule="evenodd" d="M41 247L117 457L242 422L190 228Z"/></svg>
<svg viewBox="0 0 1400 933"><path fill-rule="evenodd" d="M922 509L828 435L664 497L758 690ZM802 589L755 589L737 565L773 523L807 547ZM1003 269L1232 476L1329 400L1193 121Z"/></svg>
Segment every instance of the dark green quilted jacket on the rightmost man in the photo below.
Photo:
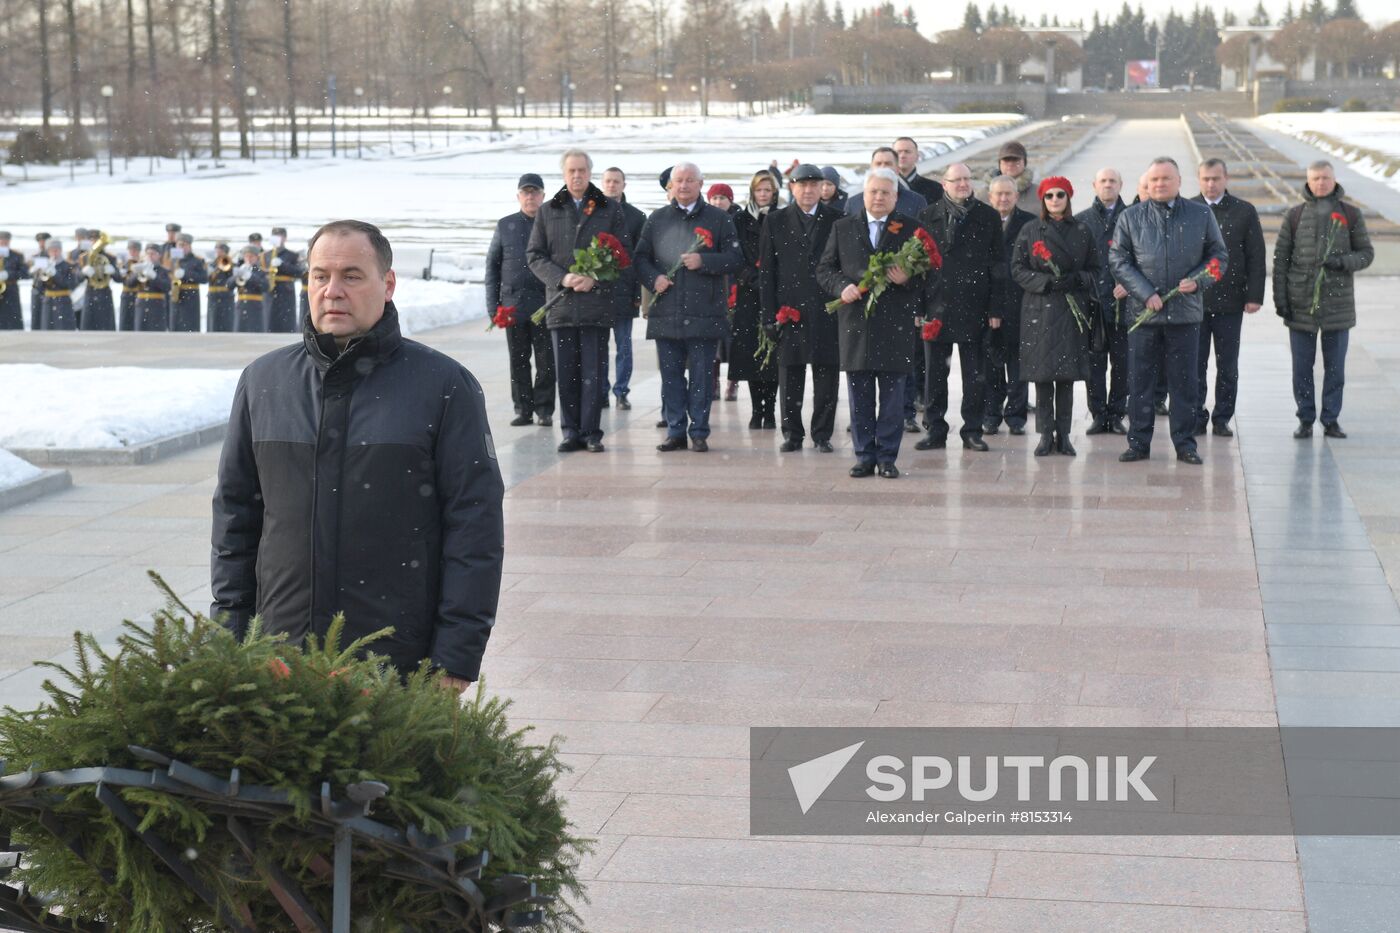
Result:
<svg viewBox="0 0 1400 933"><path fill-rule="evenodd" d="M1294 331L1316 333L1322 331L1347 331L1357 326L1357 297L1352 289L1352 275L1365 269L1376 258L1366 234L1366 221L1361 210L1350 206L1341 209L1344 192L1337 185L1327 198L1316 198L1303 185L1302 213L1294 228L1292 213L1284 214L1274 244L1274 311ZM1322 283L1322 303L1316 317L1309 314L1313 298L1313 283L1322 268L1323 251L1331 227L1333 213L1345 213L1354 223L1343 227L1331 245L1336 269L1327 269Z"/></svg>

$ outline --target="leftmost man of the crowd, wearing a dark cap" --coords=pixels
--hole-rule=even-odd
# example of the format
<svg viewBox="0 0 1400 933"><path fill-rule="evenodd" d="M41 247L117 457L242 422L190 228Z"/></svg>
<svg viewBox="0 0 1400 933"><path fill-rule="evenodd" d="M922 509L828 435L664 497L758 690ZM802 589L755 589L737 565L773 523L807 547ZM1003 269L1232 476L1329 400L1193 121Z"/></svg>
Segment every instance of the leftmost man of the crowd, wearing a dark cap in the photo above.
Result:
<svg viewBox="0 0 1400 933"><path fill-rule="evenodd" d="M549 328L535 324L529 315L545 304L545 283L529 270L525 255L535 214L545 200L545 181L535 172L521 175L515 184L515 200L521 209L496 221L491 245L486 251L486 317L496 310L515 308L512 324L505 328L505 347L511 354L511 402L515 403L512 427L522 427L539 417L549 427L554 423L554 352L549 345ZM535 374L531 380L531 353L535 354Z"/></svg>

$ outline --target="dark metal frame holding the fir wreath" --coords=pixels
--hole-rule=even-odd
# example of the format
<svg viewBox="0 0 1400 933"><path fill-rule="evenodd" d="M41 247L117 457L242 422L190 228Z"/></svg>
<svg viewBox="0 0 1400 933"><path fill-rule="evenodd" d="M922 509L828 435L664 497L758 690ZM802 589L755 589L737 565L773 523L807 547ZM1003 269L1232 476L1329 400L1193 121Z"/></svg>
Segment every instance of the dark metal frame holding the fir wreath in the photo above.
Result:
<svg viewBox="0 0 1400 933"><path fill-rule="evenodd" d="M161 790L196 799L206 804L207 810L224 814L230 835L298 933L350 933L350 867L357 841L372 841L379 852L389 850L395 855L395 859L385 866L386 876L438 888L445 895L442 926L438 929L468 933L486 933L491 929L518 930L538 926L545 919L542 905L552 898L540 895L529 878L505 874L483 880L482 869L489 859L484 849L468 860L456 859L454 849L470 839L470 827L459 827L445 836L433 836L414 825L398 829L371 820L370 810L374 801L384 797L389 789L384 783L364 780L349 785L342 800L332 797L329 782L322 783L321 793L312 797L309 825L304 828L311 835L332 839L333 845L333 864L319 856L311 863L312 871L318 876L333 876L335 880L332 918L328 925L276 859L258 852L248 831L252 822L286 817L294 807L290 793L279 787L245 786L239 782L237 768L224 780L148 748L130 745L129 751L164 770L104 766L39 772L31 768L0 778L0 810L38 811L38 822L73 849L77 857L87 862L83 846L76 841L77 835L69 831L52 808L64 797L52 792L91 786L97 800L146 843L175 877L213 906L218 912L221 925L235 933L256 933L258 927L253 926L246 908L231 912L230 906L220 904L214 892L189 869L179 846L171 845L151 831L140 832L137 829L140 818L115 789ZM8 877L22 856L22 848L14 846L8 838L0 838L0 878ZM109 871L102 870L102 873L112 880ZM0 884L0 925L10 929L22 933L109 933L115 929L105 922L90 923L46 916L48 906L22 888Z"/></svg>

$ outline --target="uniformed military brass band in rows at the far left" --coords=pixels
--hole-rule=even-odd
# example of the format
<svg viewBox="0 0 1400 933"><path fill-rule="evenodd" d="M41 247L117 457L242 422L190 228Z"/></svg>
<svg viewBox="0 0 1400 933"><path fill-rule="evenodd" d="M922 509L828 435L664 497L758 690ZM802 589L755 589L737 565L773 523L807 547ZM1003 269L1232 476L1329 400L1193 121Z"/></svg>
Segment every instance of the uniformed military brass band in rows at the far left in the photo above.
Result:
<svg viewBox="0 0 1400 933"><path fill-rule="evenodd" d="M251 234L237 256L227 242L200 256L195 238L175 223L165 224L164 242L143 248L140 240L126 241L125 255L108 252L109 240L98 230L80 227L74 240L64 251L60 240L39 233L36 252L25 261L11 248L10 233L0 231L0 329L24 329L21 279L32 280L31 331L293 333L307 310L305 263L286 245L283 227L272 228L267 249L260 233ZM120 286L116 301L113 284Z"/></svg>

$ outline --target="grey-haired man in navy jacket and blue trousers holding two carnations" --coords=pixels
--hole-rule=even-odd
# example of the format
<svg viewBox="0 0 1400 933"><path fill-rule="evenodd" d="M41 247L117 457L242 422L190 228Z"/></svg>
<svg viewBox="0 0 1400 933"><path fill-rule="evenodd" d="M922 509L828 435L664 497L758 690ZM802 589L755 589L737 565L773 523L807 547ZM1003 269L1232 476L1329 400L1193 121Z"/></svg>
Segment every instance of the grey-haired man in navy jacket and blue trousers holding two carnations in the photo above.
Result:
<svg viewBox="0 0 1400 933"><path fill-rule="evenodd" d="M666 440L657 450L710 450L714 359L729 332L728 276L743 263L729 214L704 203L693 163L671 171L672 202L647 217L637 242L637 275L657 296L647 339L657 342ZM703 231L703 233L701 233ZM708 237L708 242L699 240Z"/></svg>

